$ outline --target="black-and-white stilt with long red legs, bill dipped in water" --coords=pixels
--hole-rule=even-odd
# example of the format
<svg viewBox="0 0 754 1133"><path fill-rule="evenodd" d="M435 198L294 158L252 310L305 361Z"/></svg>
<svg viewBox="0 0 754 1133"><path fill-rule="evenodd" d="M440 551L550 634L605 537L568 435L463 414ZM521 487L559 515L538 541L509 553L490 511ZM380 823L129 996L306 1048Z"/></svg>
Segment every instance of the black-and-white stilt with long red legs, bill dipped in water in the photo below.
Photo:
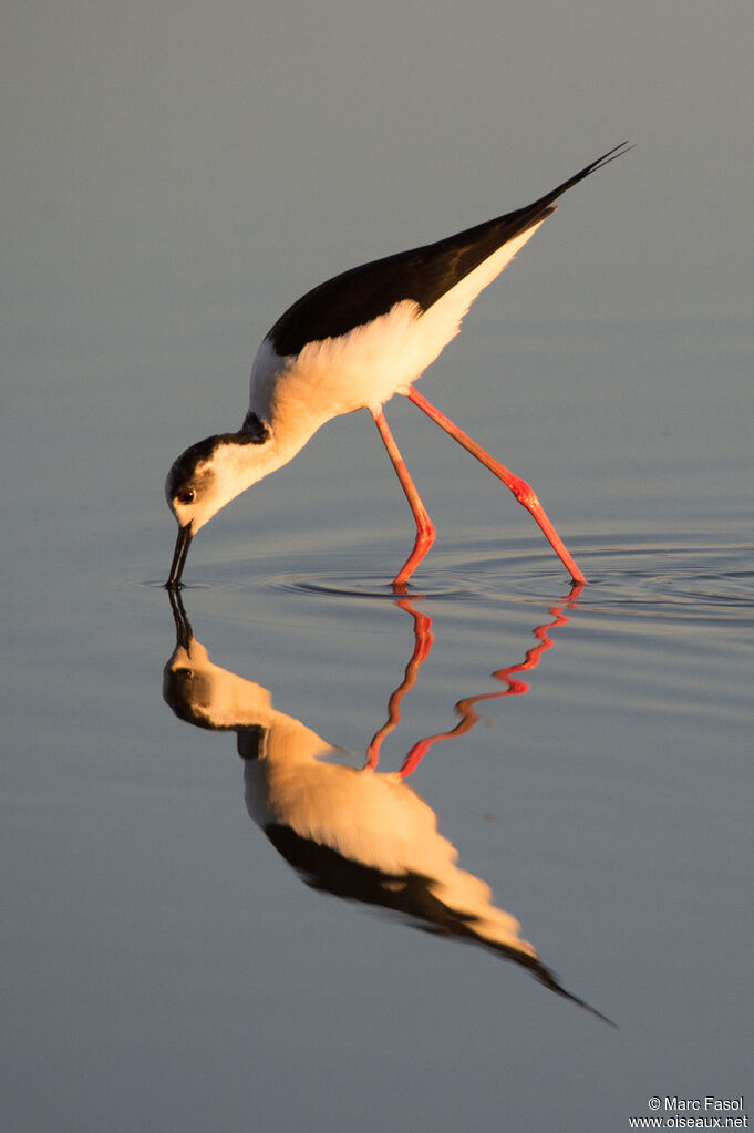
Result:
<svg viewBox="0 0 754 1133"><path fill-rule="evenodd" d="M191 539L216 511L292 460L325 421L368 409L417 525L413 551L393 583L396 590L404 589L431 546L435 528L383 414L395 393L419 406L499 477L537 520L574 582L584 582L529 484L490 457L412 383L457 334L480 291L556 211L557 197L627 148L622 143L524 208L437 244L354 267L294 303L259 347L240 432L191 445L168 475L165 495L179 527L168 588L180 587Z"/></svg>

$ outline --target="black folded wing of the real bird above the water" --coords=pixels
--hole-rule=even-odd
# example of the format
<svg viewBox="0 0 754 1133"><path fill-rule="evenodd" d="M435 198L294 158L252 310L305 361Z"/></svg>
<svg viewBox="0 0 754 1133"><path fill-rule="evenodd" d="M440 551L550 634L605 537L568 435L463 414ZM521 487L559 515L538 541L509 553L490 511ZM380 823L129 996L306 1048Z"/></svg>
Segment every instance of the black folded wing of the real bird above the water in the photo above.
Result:
<svg viewBox="0 0 754 1133"><path fill-rule="evenodd" d="M524 208L485 221L436 244L375 259L320 283L282 315L267 334L279 356L298 355L307 342L337 338L386 315L404 299L427 310L485 259L555 212L552 202L608 161L625 143Z"/></svg>

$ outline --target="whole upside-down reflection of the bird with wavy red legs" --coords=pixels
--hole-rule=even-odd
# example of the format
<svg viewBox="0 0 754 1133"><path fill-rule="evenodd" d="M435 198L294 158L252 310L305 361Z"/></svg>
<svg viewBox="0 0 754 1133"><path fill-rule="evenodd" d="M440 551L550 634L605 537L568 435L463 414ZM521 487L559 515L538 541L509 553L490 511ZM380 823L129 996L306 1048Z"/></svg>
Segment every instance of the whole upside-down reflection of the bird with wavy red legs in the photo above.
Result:
<svg viewBox="0 0 754 1133"><path fill-rule="evenodd" d="M277 712L267 689L213 664L194 637L180 595L170 600L177 645L164 667L164 699L197 727L235 732L249 815L307 885L393 911L425 931L481 945L606 1019L562 987L522 939L515 917L494 904L489 886L459 868L457 851L438 830L434 810L406 782L434 742L473 725L479 700L526 690L513 673L538 663L551 644L548 629L567 621L560 611L552 610L555 620L534 631L539 642L524 662L495 674L503 690L461 701L455 729L414 744L399 772L385 773L377 770L379 746L397 724L401 698L431 647L431 622L408 599L397 600L413 617L413 655L362 767L344 765L343 749Z"/></svg>

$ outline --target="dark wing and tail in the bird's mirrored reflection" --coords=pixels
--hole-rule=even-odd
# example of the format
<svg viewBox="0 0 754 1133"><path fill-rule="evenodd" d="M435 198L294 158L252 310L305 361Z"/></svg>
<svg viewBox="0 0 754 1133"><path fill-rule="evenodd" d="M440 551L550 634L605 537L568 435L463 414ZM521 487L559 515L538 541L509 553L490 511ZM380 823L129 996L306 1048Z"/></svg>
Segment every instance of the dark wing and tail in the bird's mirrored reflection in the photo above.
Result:
<svg viewBox="0 0 754 1133"><path fill-rule="evenodd" d="M421 877L419 874L384 874L382 870L344 858L331 846L301 837L290 826L269 824L264 830L275 850L312 889L396 912L415 928L434 936L480 944L497 955L526 968L546 988L615 1026L606 1015L566 991L549 968L535 956L487 940L475 932L475 918L451 909L440 901L432 893L431 878Z"/></svg>

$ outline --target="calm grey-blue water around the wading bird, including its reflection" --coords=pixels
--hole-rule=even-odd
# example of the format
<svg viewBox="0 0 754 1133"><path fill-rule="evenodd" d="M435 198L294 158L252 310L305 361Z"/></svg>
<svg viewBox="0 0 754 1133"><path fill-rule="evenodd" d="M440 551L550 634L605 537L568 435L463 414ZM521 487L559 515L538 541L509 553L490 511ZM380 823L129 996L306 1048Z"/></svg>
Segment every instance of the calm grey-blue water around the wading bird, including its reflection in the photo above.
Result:
<svg viewBox="0 0 754 1133"><path fill-rule="evenodd" d="M260 16L258 42L232 5L221 25L160 5L132 24L76 6L59 26L17 20L0 423L14 1133L611 1131L653 1094L751 1111L749 159L721 162L717 129L747 136L751 40L743 8L728 29L684 19L677 53L657 14L625 41L576 8L597 40L569 45L564 91L602 36L626 43L571 91L584 113L607 100L597 144L512 137L522 165L469 176L485 135L468 92L447 194L422 146L447 150L452 116L413 137L400 59L394 102L342 76L365 135L306 68L316 114L300 91L257 109L267 50L303 66L311 29ZM387 17L363 19L386 58ZM498 19L436 45L468 53L487 99ZM325 71L343 36L361 42L357 23L328 27ZM702 97L705 67L728 84ZM396 185L369 164L388 111ZM233 134L247 113L258 163ZM537 104L522 113L541 134ZM298 151L264 133L271 116ZM240 423L282 308L635 130L643 151L564 203L422 380L532 480L589 585L571 591L508 493L391 404L439 530L404 599L387 583L410 516L357 415L200 533L171 607L165 471ZM729 223L710 232L713 194Z"/></svg>

